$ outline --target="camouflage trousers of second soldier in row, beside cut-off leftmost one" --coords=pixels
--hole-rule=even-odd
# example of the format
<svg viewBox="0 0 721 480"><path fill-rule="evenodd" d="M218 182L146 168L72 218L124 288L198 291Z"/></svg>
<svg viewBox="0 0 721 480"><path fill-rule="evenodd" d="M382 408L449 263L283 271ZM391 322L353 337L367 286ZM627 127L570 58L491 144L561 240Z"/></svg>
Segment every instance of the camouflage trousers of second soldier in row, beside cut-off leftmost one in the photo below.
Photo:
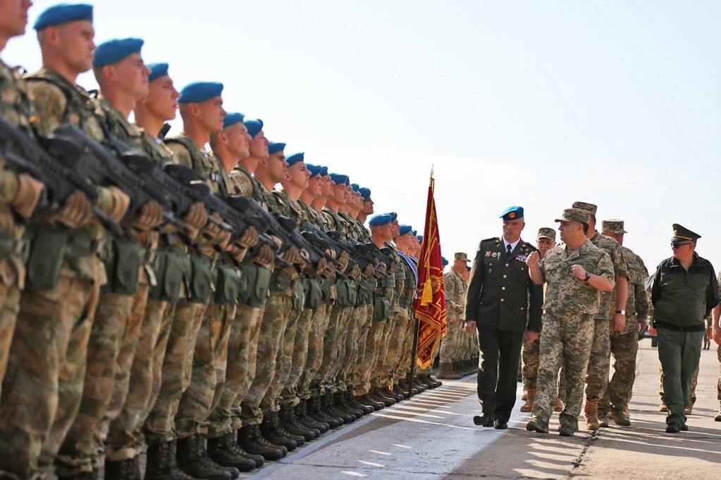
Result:
<svg viewBox="0 0 721 480"><path fill-rule="evenodd" d="M55 289L22 292L0 399L0 476L52 465L80 407L98 298L97 283L64 268Z"/></svg>

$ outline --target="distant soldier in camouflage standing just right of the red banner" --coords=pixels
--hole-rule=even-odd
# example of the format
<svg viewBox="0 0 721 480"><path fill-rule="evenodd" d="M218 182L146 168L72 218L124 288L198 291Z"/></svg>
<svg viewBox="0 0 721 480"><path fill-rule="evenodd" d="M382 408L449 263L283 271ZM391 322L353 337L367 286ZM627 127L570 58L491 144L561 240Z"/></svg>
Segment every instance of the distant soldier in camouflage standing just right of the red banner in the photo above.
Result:
<svg viewBox="0 0 721 480"><path fill-rule="evenodd" d="M459 348L462 347L464 332L459 322L459 314L466 304L466 285L461 277L461 271L468 266L468 255L463 252L454 254L454 264L450 271L443 274L443 282L446 286L446 311L448 312L448 336L441 342L441 351L438 353L440 365L438 367L438 378L460 379L461 373L453 368L454 359L459 357ZM466 352L462 352L461 355ZM460 358L458 358L460 359Z"/></svg>

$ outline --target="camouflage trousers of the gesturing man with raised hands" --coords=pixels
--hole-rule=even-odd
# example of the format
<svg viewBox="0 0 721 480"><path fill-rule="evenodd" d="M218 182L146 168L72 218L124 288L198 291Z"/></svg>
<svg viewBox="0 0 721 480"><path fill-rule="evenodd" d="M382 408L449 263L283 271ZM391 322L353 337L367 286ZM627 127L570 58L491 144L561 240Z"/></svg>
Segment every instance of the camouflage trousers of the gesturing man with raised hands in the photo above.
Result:
<svg viewBox="0 0 721 480"><path fill-rule="evenodd" d="M561 366L566 371L566 404L559 415L561 425L575 428L583 404L583 379L593 343L594 320L588 314L543 315L541 360L533 416L548 426L556 401L556 380ZM606 322L608 325L608 322Z"/></svg>

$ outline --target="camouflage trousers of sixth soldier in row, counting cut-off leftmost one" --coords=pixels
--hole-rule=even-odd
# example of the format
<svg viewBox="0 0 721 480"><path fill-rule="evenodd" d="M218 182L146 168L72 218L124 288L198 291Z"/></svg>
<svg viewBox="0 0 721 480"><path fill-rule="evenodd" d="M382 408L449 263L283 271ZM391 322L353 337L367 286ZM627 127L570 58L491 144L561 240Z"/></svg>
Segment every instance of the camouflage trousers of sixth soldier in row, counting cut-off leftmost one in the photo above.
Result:
<svg viewBox="0 0 721 480"><path fill-rule="evenodd" d="M177 438L208 433L207 420L220 402L228 365L228 341L235 321L235 305L210 304L195 340L190 384L175 414Z"/></svg>

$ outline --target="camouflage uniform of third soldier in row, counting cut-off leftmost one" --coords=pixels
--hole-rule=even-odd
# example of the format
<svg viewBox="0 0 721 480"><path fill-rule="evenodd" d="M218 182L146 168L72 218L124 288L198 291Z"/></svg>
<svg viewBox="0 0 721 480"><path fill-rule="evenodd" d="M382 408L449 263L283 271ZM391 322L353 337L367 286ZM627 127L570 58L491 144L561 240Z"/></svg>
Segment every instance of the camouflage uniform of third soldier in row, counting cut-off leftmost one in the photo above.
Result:
<svg viewBox="0 0 721 480"><path fill-rule="evenodd" d="M97 105L110 135L143 151L142 131L105 99L97 99ZM128 393L148 287L154 284L150 262L157 243L156 234L146 232L136 238L110 235L110 238L105 259L109 283L100 294L90 332L83 398L56 458L61 476L92 471L93 462L103 450L107 423L118 415ZM104 419L105 425L102 425Z"/></svg>

